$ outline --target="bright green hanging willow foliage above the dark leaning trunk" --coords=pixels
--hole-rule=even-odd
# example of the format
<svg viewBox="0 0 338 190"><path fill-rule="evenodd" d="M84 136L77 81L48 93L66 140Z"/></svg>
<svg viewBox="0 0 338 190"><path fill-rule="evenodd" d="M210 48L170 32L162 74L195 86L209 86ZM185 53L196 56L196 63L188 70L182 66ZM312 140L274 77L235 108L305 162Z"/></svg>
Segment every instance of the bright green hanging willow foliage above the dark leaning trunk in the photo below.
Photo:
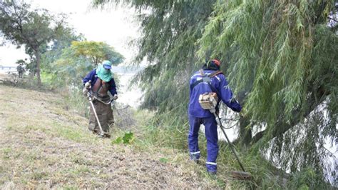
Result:
<svg viewBox="0 0 338 190"><path fill-rule="evenodd" d="M337 61L333 53L337 36L328 28L318 34L329 6L324 1L218 1L200 39L200 56L214 46L213 55L229 60L231 84L237 91L250 91L245 109L252 119L290 123L295 111L302 113L300 118L308 113L309 93L316 93L319 102L325 99L327 94L317 94L314 81L320 83L317 88L334 85L335 79L323 80L317 74L321 69L334 74L337 69L332 63ZM323 44L318 37L329 40ZM329 63L315 60L318 45L329 51L321 53L329 57ZM319 69L317 64L329 68Z"/></svg>

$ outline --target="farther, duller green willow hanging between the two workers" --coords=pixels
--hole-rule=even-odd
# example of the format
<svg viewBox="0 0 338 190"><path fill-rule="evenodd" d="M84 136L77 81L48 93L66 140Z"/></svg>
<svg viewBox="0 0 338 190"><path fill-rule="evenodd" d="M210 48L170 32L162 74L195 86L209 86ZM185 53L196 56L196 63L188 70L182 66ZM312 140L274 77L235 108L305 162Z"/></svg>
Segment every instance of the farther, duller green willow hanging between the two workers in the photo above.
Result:
<svg viewBox="0 0 338 190"><path fill-rule="evenodd" d="M93 1L96 6L109 2L123 2L139 11L141 37L135 41L134 61L148 62L138 74L145 91L143 108L172 111L176 121L186 120L187 81L202 64L196 56L197 41L215 1Z"/></svg>

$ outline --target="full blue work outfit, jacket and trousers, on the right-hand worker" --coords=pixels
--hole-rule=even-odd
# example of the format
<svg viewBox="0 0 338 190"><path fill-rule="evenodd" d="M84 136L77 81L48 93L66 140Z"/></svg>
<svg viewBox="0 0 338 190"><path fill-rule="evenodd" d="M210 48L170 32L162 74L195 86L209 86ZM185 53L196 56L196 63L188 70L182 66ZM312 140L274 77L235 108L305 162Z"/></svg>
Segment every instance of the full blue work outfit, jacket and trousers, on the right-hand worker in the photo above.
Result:
<svg viewBox="0 0 338 190"><path fill-rule="evenodd" d="M205 74L212 74L212 70L204 70ZM200 81L202 76L200 71L195 72L190 78L190 101L188 108L190 130L188 134L188 145L190 151L190 159L200 159L200 149L198 147L198 131L200 124L205 126L205 136L207 139L207 162L206 167L208 172L216 172L216 159L218 155L218 136L217 123L215 116L208 110L203 109L198 102L200 94L212 92L207 82L200 82L196 86L195 81ZM223 74L217 74L212 77L210 84L217 90L218 98L221 99L230 109L240 112L242 107L232 99L232 91L230 90L227 80ZM215 92L215 91L214 91Z"/></svg>

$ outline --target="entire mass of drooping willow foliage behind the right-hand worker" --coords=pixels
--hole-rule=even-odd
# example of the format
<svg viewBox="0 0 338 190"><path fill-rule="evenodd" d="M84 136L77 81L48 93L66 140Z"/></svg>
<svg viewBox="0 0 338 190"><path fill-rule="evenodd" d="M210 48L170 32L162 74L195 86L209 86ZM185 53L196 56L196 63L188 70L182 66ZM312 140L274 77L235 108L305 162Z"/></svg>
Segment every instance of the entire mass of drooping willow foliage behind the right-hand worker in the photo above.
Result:
<svg viewBox="0 0 338 190"><path fill-rule="evenodd" d="M140 11L135 62L149 63L138 74L145 90L143 107L173 111L183 121L190 74L205 59L220 59L244 106L242 147L268 147L275 165L292 173L311 167L319 174L316 180L324 181L329 174L324 139L337 139L338 36L337 28L327 27L334 1L93 4L121 2ZM261 131L253 134L253 129Z"/></svg>

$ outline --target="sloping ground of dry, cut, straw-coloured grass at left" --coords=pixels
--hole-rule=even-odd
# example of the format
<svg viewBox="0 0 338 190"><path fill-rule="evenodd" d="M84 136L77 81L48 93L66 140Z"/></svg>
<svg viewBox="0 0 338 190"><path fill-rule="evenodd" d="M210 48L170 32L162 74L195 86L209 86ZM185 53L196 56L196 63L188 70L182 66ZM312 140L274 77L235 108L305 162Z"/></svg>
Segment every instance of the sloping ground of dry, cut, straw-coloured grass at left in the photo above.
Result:
<svg viewBox="0 0 338 190"><path fill-rule="evenodd" d="M0 84L0 189L210 189L171 149L111 144L60 96Z"/></svg>

